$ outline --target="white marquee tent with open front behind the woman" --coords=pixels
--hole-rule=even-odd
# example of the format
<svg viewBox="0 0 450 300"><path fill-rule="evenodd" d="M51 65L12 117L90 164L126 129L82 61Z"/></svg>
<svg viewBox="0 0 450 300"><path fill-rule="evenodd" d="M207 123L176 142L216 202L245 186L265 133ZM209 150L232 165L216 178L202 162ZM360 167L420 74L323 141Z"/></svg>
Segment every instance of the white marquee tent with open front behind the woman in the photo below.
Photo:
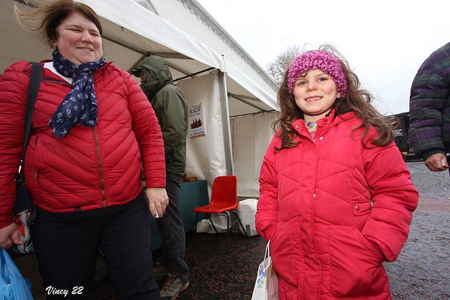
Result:
<svg viewBox="0 0 450 300"><path fill-rule="evenodd" d="M169 22L170 17L158 16L133 0L80 1L101 17L103 54L107 60L130 70L142 57L159 55L168 62L173 78L179 79L176 83L185 94L188 107L201 104L205 134L187 138L186 173L205 178L209 184L215 176L236 174L238 195L257 196L257 176L272 135L269 125L274 118L276 100L273 82L261 80L260 67L254 71L242 62L249 59L254 63L251 57L239 60L229 55L229 60L227 55L186 33L187 29L181 30ZM16 60L38 61L51 57L48 46L17 25L14 4L21 10L31 9L19 2L0 1L1 70ZM172 19L190 17L192 26L186 28L198 28L205 17L211 21L210 15L194 0L153 2L156 6L172 5L172 11L185 13ZM192 7L197 9L196 18L188 15ZM159 10L164 11L162 8ZM212 23L221 28L215 21ZM207 27L204 30L210 29Z"/></svg>

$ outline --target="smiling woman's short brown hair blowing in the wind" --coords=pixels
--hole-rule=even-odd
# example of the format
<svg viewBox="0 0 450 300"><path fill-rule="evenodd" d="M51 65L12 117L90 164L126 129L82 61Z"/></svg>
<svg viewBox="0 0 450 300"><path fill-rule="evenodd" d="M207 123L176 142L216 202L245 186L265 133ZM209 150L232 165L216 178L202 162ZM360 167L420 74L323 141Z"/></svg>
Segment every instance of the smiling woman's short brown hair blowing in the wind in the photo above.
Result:
<svg viewBox="0 0 450 300"><path fill-rule="evenodd" d="M16 3L14 11L17 21L23 29L38 32L38 36L42 42L48 44L52 48L53 42L58 38L58 33L56 31L57 26L72 12L81 13L95 24L100 35L103 33L98 15L86 4L75 2L73 0L57 0L50 3L45 2L41 5L35 5L34 3L36 2L42 1L32 1L32 4L27 3L28 6L37 6L37 8L26 12L20 11ZM37 22L37 25L30 27L25 25L24 22Z"/></svg>

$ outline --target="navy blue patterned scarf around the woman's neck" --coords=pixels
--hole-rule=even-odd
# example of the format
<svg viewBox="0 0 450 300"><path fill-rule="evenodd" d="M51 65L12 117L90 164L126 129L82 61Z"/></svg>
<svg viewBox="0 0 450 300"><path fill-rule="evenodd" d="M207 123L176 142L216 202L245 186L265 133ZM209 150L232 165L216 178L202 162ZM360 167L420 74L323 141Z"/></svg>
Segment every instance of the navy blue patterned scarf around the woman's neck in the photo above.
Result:
<svg viewBox="0 0 450 300"><path fill-rule="evenodd" d="M97 124L97 100L92 73L103 66L104 57L98 61L75 65L62 56L58 49L53 51L53 66L58 73L72 77L72 89L62 99L48 124L56 136L64 137L76 124L93 127Z"/></svg>

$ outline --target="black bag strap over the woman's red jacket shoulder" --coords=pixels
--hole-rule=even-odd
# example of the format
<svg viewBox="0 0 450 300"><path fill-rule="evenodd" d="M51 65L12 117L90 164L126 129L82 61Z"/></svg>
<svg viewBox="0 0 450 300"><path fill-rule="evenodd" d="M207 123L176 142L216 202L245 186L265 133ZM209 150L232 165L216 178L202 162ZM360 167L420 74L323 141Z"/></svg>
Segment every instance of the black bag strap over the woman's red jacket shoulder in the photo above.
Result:
<svg viewBox="0 0 450 300"><path fill-rule="evenodd" d="M28 85L28 95L26 97L25 110L25 135L23 137L23 150L20 156L20 164L17 171L17 177L24 182L22 175L23 159L25 158L25 149L28 144L29 130L31 129L31 119L34 112L34 101L36 101L37 92L39 91L40 75L42 66L39 62L31 61L31 74Z"/></svg>

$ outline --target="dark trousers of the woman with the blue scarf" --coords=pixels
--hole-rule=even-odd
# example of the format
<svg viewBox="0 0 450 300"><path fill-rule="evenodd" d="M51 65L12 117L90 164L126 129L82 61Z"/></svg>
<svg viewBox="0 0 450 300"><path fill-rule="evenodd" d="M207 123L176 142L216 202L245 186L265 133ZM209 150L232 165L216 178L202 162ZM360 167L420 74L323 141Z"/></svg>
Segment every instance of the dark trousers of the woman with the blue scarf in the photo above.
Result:
<svg viewBox="0 0 450 300"><path fill-rule="evenodd" d="M119 299L160 298L143 192L124 205L69 213L36 210L31 232L47 299L89 298L98 246Z"/></svg>

